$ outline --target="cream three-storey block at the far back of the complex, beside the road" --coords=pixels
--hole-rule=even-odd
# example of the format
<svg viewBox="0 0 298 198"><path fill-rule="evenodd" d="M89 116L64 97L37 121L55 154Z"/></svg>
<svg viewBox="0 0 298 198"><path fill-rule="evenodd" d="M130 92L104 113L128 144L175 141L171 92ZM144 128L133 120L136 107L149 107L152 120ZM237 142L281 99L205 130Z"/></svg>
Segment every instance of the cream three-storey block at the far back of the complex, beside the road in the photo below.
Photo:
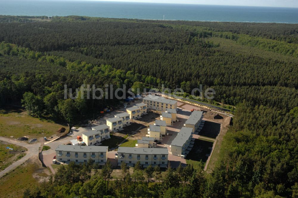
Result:
<svg viewBox="0 0 298 198"><path fill-rule="evenodd" d="M148 95L143 99L147 109L165 111L166 109L177 109L177 101L170 100L161 96Z"/></svg>

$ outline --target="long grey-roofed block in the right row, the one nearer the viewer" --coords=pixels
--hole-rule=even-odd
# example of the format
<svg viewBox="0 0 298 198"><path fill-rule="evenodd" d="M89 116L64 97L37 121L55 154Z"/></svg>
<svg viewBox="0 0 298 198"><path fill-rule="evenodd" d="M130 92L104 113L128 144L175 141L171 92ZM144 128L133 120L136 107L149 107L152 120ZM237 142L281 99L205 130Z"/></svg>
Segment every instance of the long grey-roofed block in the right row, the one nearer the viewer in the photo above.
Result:
<svg viewBox="0 0 298 198"><path fill-rule="evenodd" d="M185 158L191 148L193 148L194 141L192 141L192 137L193 129L182 127L170 145L172 154Z"/></svg>

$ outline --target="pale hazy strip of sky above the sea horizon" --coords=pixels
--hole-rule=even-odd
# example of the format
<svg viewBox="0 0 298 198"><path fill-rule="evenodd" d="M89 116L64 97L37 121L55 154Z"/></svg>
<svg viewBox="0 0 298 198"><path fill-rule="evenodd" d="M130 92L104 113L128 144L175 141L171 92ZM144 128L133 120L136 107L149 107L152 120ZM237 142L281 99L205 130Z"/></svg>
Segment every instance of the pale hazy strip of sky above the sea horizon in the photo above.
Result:
<svg viewBox="0 0 298 198"><path fill-rule="evenodd" d="M94 1L97 1L97 0L94 0ZM207 5L241 5L241 6L266 6L266 7L298 7L298 0L104 0L104 1L207 4Z"/></svg>

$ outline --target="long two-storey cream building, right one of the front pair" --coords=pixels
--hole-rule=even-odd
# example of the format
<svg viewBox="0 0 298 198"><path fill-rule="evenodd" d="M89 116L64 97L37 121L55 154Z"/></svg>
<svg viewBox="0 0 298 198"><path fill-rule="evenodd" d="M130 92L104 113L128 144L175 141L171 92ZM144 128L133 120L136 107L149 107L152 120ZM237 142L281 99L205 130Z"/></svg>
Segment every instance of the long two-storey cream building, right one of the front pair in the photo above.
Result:
<svg viewBox="0 0 298 198"><path fill-rule="evenodd" d="M134 166L138 161L145 168L148 165L167 167L168 149L167 148L118 148L118 165L125 162L129 166Z"/></svg>

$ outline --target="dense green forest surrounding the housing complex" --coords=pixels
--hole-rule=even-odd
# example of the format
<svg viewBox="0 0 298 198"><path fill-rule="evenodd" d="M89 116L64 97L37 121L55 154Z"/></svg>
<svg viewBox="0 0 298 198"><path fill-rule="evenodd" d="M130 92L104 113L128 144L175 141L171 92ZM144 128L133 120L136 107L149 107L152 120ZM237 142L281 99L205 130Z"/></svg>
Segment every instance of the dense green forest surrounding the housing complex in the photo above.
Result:
<svg viewBox="0 0 298 198"><path fill-rule="evenodd" d="M122 167L110 180L108 165L73 164L24 197L298 196L297 24L1 16L0 42L0 105L33 116L79 123L119 103L64 100L64 84L164 84L186 95L202 84L216 92L204 101L236 106L212 174Z"/></svg>

